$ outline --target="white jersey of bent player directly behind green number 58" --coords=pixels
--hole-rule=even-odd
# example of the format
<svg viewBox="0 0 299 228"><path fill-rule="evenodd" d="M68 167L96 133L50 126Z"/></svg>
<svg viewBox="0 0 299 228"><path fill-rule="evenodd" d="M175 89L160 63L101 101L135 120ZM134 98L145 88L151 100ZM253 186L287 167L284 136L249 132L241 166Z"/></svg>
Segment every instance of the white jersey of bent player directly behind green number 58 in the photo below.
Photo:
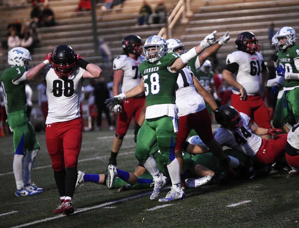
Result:
<svg viewBox="0 0 299 228"><path fill-rule="evenodd" d="M205 109L205 101L197 92L193 84L193 72L187 68L179 71L176 81L176 105L179 108L179 116L197 113Z"/></svg>

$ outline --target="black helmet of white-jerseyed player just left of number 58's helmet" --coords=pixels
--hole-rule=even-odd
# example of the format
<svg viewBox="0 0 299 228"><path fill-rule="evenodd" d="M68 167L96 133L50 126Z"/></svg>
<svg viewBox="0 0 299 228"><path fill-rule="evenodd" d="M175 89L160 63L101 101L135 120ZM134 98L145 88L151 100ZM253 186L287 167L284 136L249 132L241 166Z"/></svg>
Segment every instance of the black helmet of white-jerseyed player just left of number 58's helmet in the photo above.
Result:
<svg viewBox="0 0 299 228"><path fill-rule="evenodd" d="M123 38L121 41L123 44L123 50L127 53L131 53L140 56L143 52L143 42L139 36L129 35Z"/></svg>

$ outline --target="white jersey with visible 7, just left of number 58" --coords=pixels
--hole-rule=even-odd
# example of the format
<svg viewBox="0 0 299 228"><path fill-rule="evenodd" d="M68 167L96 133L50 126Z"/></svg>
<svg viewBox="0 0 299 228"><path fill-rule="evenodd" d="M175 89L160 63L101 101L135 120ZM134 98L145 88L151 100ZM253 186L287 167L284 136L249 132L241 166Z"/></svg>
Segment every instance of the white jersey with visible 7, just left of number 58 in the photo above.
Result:
<svg viewBox="0 0 299 228"><path fill-rule="evenodd" d="M120 55L113 61L113 70L123 70L123 81L121 92L125 93L133 87L139 85L141 74L139 65L144 61L144 56L139 56L137 60L126 55ZM143 94L142 94L143 95Z"/></svg>

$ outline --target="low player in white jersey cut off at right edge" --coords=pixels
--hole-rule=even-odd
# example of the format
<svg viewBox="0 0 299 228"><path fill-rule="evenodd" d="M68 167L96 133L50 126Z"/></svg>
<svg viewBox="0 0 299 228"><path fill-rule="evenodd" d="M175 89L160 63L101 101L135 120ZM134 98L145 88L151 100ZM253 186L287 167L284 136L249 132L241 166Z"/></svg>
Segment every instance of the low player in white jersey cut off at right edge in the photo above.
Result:
<svg viewBox="0 0 299 228"><path fill-rule="evenodd" d="M292 167L290 175L299 175L299 121L288 133L286 144L286 161Z"/></svg>

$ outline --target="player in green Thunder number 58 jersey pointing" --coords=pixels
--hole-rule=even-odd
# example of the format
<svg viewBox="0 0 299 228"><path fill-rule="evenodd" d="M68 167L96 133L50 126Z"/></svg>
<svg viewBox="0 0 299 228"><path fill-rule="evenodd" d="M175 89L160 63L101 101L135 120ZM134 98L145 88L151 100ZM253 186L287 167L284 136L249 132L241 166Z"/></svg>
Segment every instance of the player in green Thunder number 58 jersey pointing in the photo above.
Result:
<svg viewBox="0 0 299 228"><path fill-rule="evenodd" d="M155 199L166 184L157 168L155 159L149 154L151 147L157 142L164 164L167 165L172 182L171 191L160 202L184 199L181 188L180 166L174 154L176 132L178 131L178 108L176 106L176 80L178 72L205 48L214 44L216 31L201 41L200 45L179 56L177 53L167 54L167 43L161 36L150 36L144 44L144 57L139 66L143 76L140 84L126 93L107 99L112 107L121 101L145 93L147 110L145 121L137 135L135 156L141 161L154 179L154 191L150 199Z"/></svg>

